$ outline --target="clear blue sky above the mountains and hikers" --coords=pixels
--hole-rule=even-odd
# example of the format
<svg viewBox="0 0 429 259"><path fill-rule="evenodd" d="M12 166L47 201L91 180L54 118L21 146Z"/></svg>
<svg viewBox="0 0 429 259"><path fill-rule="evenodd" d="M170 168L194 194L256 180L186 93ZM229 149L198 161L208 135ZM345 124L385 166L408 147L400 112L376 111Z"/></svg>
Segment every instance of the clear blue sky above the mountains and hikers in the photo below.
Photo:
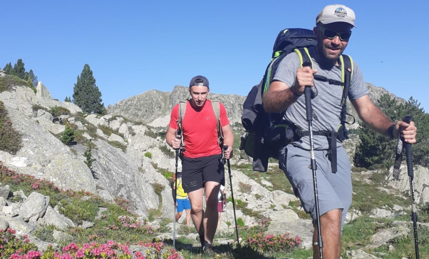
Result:
<svg viewBox="0 0 429 259"><path fill-rule="evenodd" d="M305 3L305 5L303 4ZM61 101L85 63L104 104L205 75L215 93L259 83L284 28L311 29L323 6L356 13L345 54L365 81L429 111L428 1L2 1L0 66L22 58Z"/></svg>

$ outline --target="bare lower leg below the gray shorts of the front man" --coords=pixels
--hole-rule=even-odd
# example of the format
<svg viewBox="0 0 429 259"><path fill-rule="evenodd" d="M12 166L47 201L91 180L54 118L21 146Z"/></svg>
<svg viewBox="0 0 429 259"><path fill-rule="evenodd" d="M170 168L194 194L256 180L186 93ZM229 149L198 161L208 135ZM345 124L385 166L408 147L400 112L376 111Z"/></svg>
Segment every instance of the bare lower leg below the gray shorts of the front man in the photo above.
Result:
<svg viewBox="0 0 429 259"><path fill-rule="evenodd" d="M323 239L323 258L338 259L341 254L341 213L342 209L328 211L320 216ZM317 241L317 226L314 226L313 243ZM313 259L320 259L319 247L313 245Z"/></svg>

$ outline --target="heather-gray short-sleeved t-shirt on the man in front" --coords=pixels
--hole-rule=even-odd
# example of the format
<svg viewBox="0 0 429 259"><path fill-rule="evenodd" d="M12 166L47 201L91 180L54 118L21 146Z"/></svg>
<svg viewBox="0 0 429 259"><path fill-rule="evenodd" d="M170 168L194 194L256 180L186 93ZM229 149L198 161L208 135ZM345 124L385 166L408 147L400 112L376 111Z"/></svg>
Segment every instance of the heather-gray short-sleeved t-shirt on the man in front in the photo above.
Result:
<svg viewBox="0 0 429 259"><path fill-rule="evenodd" d="M316 57L314 48L310 48L309 53L313 61L313 68L317 69L316 75L323 75L328 79L341 81L341 66L333 66L330 70L321 69L317 60L314 59ZM279 63L272 80L282 81L289 87L293 86L296 80L296 70L299 68L299 65L298 55L296 53L288 54ZM317 117L317 119L313 117L312 120L313 131L337 131L340 125L342 86L317 80L314 80L314 85L317 88L318 95L311 100L313 112ZM354 100L368 93L368 88L363 81L362 71L353 62L353 77L350 83L348 98ZM351 105L350 102L348 105ZM285 118L298 124L303 130L308 130L308 122L305 117L304 95L300 96L296 102L287 108ZM314 136L313 139L314 149L329 149L328 140L325 136ZM303 137L299 142L294 142L293 145L310 149L310 140L308 136ZM341 142L337 141L337 147L341 145Z"/></svg>

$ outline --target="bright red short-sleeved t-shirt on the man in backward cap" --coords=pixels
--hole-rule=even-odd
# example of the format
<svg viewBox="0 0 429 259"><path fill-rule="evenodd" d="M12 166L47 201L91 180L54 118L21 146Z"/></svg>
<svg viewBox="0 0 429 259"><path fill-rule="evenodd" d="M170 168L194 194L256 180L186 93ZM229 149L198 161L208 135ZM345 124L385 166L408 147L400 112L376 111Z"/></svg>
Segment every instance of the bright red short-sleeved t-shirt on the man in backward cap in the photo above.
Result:
<svg viewBox="0 0 429 259"><path fill-rule="evenodd" d="M219 103L221 109L221 125L228 125L230 121L227 117L227 110L222 103ZM173 129L178 129L177 119L179 117L179 105L175 105L171 111L171 119L168 124ZM201 110L196 110L186 103L186 111L183 116L183 141L185 151L183 155L188 158L208 157L221 154L221 147L218 144L218 125L215 112L211 107L211 101L206 100Z"/></svg>

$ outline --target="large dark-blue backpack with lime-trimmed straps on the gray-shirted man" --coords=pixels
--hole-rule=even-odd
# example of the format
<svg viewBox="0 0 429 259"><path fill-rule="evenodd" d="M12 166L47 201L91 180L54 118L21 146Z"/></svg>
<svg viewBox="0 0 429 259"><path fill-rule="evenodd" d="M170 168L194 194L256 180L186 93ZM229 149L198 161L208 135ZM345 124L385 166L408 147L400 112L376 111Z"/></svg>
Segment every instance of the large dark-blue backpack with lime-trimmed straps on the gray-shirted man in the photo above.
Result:
<svg viewBox="0 0 429 259"><path fill-rule="evenodd" d="M278 64L286 57L287 54L295 52L302 64L309 63L313 67L308 47L317 44L312 30L307 29L285 29L278 34L272 53L271 62L268 64L261 82L248 93L243 104L242 124L245 133L242 135L240 149L253 157L253 170L266 172L268 169L268 160L270 157L278 159L279 150L287 143L297 141L302 136L308 136L308 131L302 130L298 125L291 121L284 120L284 112L267 113L263 109L263 94L269 88L272 81L272 75L275 74ZM314 75L315 80L327 81L329 84L342 85L343 94L341 98L342 111L340 114L341 123L336 132L316 132L314 135L326 136L332 146L332 172L336 172L336 145L331 145L336 139L340 141L348 139L347 129L345 127L346 117L346 99L350 79L353 73L353 60L347 55L341 55L342 77L341 82L328 79L323 76ZM347 68L347 69L344 69ZM316 90L312 87L312 90ZM335 151L335 152L334 152ZM335 161L334 161L335 160ZM335 162L335 163L334 163Z"/></svg>

